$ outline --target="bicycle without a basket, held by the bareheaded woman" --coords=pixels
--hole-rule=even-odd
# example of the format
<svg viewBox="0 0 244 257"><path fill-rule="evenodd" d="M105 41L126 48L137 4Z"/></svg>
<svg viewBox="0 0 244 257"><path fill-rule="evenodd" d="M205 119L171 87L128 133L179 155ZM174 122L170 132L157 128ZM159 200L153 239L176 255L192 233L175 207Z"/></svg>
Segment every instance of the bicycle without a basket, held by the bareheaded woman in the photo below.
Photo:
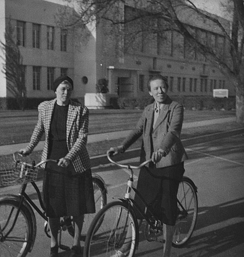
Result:
<svg viewBox="0 0 244 257"><path fill-rule="evenodd" d="M144 232L146 240L164 243L163 224L156 217L152 208L145 203L138 190L133 187L133 170L142 168L151 160L144 161L139 166L131 166L115 162L108 153L107 158L118 167L129 170L130 176L124 198L107 204L93 219L86 236L84 256L111 256L121 250L123 246L126 246L126 256L134 256L139 243L139 225L135 210L146 221ZM130 198L132 190L146 207L145 211L142 211L135 200ZM181 247L189 241L193 233L198 211L197 188L188 177L184 176L180 182L177 202L178 217L172 244L174 247ZM99 229L96 229L98 224Z"/></svg>

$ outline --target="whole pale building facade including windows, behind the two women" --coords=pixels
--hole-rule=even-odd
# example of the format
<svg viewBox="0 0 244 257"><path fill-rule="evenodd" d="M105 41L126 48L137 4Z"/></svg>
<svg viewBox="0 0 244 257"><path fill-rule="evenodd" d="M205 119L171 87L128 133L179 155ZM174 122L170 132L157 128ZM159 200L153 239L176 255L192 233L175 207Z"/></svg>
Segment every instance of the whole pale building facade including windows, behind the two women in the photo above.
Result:
<svg viewBox="0 0 244 257"><path fill-rule="evenodd" d="M14 40L18 45L24 68L28 98L52 98L52 82L67 74L74 80L73 97L84 98L96 93L99 79L108 80L109 93L119 97L147 94L147 80L155 74L168 78L173 96L212 96L213 89L229 89L235 95L228 78L205 62L204 57L190 51L182 36L165 32L146 38L141 34L134 43L126 42L126 33L108 36L107 24L86 27L86 42L79 31L57 27L55 14L59 4L43 0L2 0L0 2L0 40L10 20ZM135 8L120 6L121 15L131 15ZM216 47L224 45L224 36L211 26L193 24L203 39ZM123 27L123 31L129 27ZM127 45L126 45L127 44ZM0 74L0 97L11 97L6 78Z"/></svg>

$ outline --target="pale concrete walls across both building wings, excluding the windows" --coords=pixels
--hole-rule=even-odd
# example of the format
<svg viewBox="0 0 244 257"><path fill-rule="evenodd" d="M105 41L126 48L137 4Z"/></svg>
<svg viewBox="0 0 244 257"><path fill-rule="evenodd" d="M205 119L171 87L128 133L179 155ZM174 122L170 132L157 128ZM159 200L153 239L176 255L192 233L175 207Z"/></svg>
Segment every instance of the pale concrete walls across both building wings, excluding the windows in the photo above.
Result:
<svg viewBox="0 0 244 257"><path fill-rule="evenodd" d="M58 2L59 3L59 2ZM61 2L60 2L61 3ZM225 81L225 88L229 88L229 95L235 95L234 88L229 87L228 78L220 71L204 61L184 59L182 51L174 51L173 56L157 52L155 38L148 38L144 51L124 52L123 34L109 34L106 22L90 24L84 31L69 31L67 51L60 50L60 29L55 24L54 14L60 5L43 0L2 0L0 1L0 39L4 40L5 19L11 16L12 26L16 21L26 22L26 45L20 47L23 64L26 65L26 86L28 97L55 97L52 90L47 90L47 67L54 67L54 78L60 76L61 68L68 68L68 75L74 80L73 97L83 98L85 93L95 93L98 79L109 81L109 93L118 93L119 82L124 83L130 96L147 94L146 82L149 76L161 73L168 78L174 77L171 95L212 95L200 92L200 79ZM124 15L123 5L120 4L120 14ZM196 21L195 21L196 22ZM223 23L225 20L223 20ZM41 47L32 47L32 23L41 25ZM203 23L196 26L202 27ZM55 28L54 50L47 49L47 26ZM225 24L228 26L228 24ZM204 27L204 26L203 26ZM210 26L211 27L211 26ZM215 31L213 28L208 29ZM206 28L206 27L205 27ZM120 28L123 31L123 27ZM118 38L119 36L119 38ZM173 35L174 42L181 42L179 36ZM118 40L119 39L119 40ZM179 49L178 49L179 50ZM205 68L204 68L205 65ZM41 66L41 90L32 89L32 66ZM205 77L202 77L205 72ZM139 76L144 75L144 90L139 89ZM207 76L207 77L206 77ZM87 78L87 83L84 81ZM185 78L185 92L177 91L177 78ZM189 91L191 78L197 78L197 91ZM6 97L6 80L0 75L0 97ZM121 87L120 87L121 89Z"/></svg>

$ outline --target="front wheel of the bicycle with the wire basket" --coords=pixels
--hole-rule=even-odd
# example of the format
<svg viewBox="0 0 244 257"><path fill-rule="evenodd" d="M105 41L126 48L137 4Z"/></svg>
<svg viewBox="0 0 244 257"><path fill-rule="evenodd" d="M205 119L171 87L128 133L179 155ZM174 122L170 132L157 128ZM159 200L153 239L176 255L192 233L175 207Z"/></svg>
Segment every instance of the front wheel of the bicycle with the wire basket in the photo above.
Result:
<svg viewBox="0 0 244 257"><path fill-rule="evenodd" d="M1 257L25 257L32 244L32 218L28 209L22 205L13 230L3 240L11 228L18 210L18 201L0 201L0 252ZM2 237L2 238L1 238Z"/></svg>

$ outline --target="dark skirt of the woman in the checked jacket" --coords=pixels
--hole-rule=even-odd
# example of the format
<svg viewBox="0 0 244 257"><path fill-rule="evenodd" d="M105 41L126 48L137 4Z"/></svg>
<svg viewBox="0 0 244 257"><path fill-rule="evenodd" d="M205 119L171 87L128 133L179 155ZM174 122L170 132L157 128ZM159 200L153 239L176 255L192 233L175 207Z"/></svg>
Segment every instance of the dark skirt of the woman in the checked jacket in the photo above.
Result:
<svg viewBox="0 0 244 257"><path fill-rule="evenodd" d="M53 141L52 150L49 159L64 157L66 142ZM72 164L62 168L54 162L48 162L44 171L43 199L48 217L95 213L91 171L78 174Z"/></svg>

